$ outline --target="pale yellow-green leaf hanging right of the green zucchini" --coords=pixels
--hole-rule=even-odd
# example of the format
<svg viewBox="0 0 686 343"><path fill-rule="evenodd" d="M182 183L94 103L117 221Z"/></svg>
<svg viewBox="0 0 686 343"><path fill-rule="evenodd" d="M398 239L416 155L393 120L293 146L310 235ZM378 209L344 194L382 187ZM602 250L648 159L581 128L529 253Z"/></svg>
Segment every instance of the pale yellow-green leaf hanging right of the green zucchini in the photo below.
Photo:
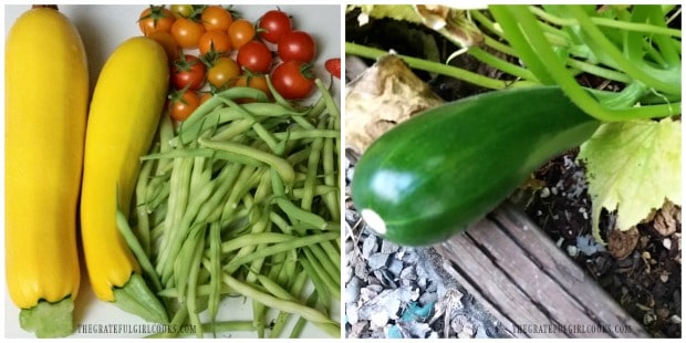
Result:
<svg viewBox="0 0 686 343"><path fill-rule="evenodd" d="M666 199L680 205L680 122L671 118L604 124L581 146L596 240L602 208L616 210L616 229L628 230Z"/></svg>

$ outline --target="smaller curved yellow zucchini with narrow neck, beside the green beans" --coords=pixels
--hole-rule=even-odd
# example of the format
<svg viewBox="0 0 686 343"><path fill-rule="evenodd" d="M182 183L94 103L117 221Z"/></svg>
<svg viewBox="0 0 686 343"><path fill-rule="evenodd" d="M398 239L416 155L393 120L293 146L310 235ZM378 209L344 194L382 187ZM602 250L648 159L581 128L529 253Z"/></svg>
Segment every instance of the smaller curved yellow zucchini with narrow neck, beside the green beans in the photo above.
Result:
<svg viewBox="0 0 686 343"><path fill-rule="evenodd" d="M168 73L164 49L145 37L126 40L107 59L91 101L81 194L82 243L95 294L155 322L167 321L166 312L142 281L116 210L129 212L139 158L164 110Z"/></svg>

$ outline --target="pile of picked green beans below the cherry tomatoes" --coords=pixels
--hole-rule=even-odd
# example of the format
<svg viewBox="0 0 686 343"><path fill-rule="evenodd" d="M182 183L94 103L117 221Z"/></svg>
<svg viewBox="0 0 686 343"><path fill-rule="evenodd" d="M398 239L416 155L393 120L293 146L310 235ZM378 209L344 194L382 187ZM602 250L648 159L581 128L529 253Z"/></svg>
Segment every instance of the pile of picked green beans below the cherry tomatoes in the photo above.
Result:
<svg viewBox="0 0 686 343"><path fill-rule="evenodd" d="M309 322L340 336L340 111L316 85L309 106L232 87L178 126L162 117L121 229L172 325L279 337L294 322L297 337ZM237 295L252 318L222 322Z"/></svg>

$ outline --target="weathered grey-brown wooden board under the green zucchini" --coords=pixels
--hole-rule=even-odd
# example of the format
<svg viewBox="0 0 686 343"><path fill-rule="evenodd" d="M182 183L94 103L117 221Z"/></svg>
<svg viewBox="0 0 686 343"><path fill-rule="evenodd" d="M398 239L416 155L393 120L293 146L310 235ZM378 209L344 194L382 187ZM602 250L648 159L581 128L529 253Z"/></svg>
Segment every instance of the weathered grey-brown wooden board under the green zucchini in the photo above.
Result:
<svg viewBox="0 0 686 343"><path fill-rule="evenodd" d="M513 337L648 337L511 204L435 249L444 269Z"/></svg>

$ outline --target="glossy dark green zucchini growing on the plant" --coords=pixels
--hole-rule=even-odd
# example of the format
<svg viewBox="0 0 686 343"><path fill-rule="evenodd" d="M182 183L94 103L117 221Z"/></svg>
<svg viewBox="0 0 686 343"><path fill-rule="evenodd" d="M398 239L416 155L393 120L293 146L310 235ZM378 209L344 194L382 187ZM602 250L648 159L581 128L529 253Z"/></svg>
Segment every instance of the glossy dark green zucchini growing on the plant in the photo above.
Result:
<svg viewBox="0 0 686 343"><path fill-rule="evenodd" d="M493 91L446 103L376 139L355 166L352 198L391 241L446 240L502 202L600 122L558 86Z"/></svg>

